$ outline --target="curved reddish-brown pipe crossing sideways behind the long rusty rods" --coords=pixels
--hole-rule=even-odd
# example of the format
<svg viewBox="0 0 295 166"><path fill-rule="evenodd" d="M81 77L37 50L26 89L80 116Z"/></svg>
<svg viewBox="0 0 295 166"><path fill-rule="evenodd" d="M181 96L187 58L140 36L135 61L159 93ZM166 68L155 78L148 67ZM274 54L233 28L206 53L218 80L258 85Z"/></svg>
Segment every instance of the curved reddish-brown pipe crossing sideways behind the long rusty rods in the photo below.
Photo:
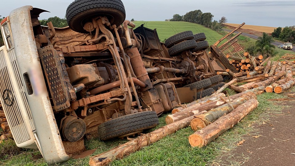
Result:
<svg viewBox="0 0 295 166"><path fill-rule="evenodd" d="M129 83L130 82L130 79L128 78L127 81ZM136 85L139 85L142 88L146 88L147 87L147 84L145 84L144 82L140 81L137 78L132 77L132 81ZM120 81L115 81L115 82L109 83L107 85L102 85L100 87L97 87L95 89L92 89L89 92L90 92L91 95L94 95L94 94L97 94L97 93L100 93L100 92L103 92L103 91L106 91L106 90L109 90L109 89L112 89L112 88L116 88L118 86L120 86Z"/></svg>

